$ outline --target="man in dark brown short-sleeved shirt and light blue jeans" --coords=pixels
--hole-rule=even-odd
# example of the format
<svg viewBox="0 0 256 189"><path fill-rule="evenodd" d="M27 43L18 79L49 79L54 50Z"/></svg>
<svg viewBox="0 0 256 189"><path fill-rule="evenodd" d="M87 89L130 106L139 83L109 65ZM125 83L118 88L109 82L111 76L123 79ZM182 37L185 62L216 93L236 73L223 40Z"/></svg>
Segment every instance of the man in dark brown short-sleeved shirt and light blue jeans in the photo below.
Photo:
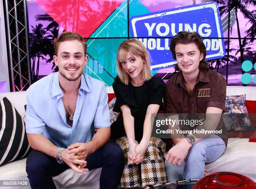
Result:
<svg viewBox="0 0 256 189"><path fill-rule="evenodd" d="M226 82L222 75L208 69L206 47L196 32L177 33L170 50L179 72L166 82L165 113L174 114L174 119L178 113L206 113L203 125L222 130L221 134L202 138L190 133L172 138L174 146L166 155L168 180L189 181L204 176L205 163L215 161L225 151L227 137L221 113L225 111Z"/></svg>

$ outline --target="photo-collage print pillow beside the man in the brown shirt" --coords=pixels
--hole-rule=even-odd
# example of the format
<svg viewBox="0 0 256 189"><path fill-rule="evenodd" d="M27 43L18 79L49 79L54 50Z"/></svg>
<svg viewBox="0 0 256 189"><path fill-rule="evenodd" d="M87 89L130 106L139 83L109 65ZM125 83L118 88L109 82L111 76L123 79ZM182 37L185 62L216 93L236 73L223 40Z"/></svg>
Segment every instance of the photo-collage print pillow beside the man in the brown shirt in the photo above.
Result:
<svg viewBox="0 0 256 189"><path fill-rule="evenodd" d="M246 95L231 95L226 97L224 124L228 131L252 131L246 107Z"/></svg>

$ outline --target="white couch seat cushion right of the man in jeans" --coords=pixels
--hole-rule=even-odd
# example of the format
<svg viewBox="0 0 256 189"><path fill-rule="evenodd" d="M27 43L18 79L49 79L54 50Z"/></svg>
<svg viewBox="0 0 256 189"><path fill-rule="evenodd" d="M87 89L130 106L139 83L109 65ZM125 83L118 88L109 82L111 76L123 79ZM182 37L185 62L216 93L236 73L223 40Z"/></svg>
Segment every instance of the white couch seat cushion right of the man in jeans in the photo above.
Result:
<svg viewBox="0 0 256 189"><path fill-rule="evenodd" d="M256 181L256 143L248 138L229 138L225 152L212 163L206 165L207 174L230 171L248 176Z"/></svg>

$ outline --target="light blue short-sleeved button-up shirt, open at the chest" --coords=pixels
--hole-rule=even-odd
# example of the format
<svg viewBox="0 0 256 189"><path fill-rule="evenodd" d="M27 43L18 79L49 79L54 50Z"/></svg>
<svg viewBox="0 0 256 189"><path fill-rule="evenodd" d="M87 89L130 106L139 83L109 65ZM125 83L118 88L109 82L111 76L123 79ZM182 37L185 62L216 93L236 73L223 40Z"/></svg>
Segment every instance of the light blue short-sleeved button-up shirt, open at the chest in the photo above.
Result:
<svg viewBox="0 0 256 189"><path fill-rule="evenodd" d="M59 72L52 73L28 88L26 132L40 133L62 148L77 142L89 142L94 128L110 127L105 85L100 80L82 74L73 126L70 127L61 99L64 94L58 76Z"/></svg>

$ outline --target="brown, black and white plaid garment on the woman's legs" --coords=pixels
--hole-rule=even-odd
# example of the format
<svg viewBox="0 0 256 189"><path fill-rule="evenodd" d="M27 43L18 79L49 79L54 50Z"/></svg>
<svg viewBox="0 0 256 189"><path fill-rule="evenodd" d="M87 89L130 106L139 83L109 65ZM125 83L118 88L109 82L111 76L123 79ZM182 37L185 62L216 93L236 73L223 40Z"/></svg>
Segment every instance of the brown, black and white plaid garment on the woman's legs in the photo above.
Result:
<svg viewBox="0 0 256 189"><path fill-rule="evenodd" d="M144 159L141 161L141 171L139 171L138 165L135 163L131 164L128 161L128 138L118 138L115 142L122 148L125 159L125 165L120 183L121 187L144 187L167 181L164 166L164 152L166 145L160 138L150 138Z"/></svg>

